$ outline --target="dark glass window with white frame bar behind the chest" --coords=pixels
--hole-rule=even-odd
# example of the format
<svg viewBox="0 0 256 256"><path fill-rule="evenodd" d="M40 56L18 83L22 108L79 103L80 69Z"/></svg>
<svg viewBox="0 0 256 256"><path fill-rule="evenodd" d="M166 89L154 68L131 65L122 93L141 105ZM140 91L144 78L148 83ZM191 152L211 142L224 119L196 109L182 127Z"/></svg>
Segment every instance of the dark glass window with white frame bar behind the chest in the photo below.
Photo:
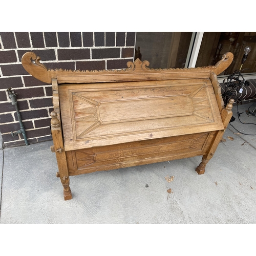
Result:
<svg viewBox="0 0 256 256"><path fill-rule="evenodd" d="M226 76L240 69L247 45L241 73L256 78L256 32L137 32L135 59L148 60L150 68L191 68L215 65L232 52L232 64L220 74Z"/></svg>

